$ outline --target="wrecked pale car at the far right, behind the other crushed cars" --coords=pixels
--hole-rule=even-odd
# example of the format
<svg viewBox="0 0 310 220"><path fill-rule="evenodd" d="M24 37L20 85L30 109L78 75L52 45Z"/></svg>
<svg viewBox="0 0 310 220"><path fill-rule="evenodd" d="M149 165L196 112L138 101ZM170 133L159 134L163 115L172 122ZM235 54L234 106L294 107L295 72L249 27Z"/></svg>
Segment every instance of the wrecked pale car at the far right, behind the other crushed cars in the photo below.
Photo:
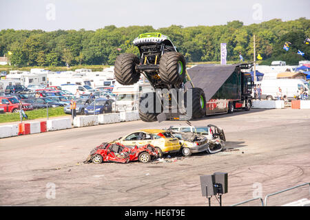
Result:
<svg viewBox="0 0 310 220"><path fill-rule="evenodd" d="M194 133L207 137L208 140L208 153L217 153L223 151L225 146L226 137L223 129L220 129L214 124L207 126L170 126L168 131Z"/></svg>

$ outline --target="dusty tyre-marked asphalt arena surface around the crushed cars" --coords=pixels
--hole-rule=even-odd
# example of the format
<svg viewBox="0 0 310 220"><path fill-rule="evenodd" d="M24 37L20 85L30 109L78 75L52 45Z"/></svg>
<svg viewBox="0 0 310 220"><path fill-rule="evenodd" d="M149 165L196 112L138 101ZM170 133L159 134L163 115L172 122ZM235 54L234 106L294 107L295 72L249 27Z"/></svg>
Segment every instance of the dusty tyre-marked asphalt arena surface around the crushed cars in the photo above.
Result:
<svg viewBox="0 0 310 220"><path fill-rule="evenodd" d="M138 129L185 124L169 121L121 122L0 139L0 205L206 206L199 176L226 172L229 192L223 195L223 206L230 206L310 181L309 109L251 109L192 123L223 128L226 151L193 154L176 162L83 164L101 142ZM271 197L268 203L280 206L302 198L309 198L309 188ZM211 205L218 206L216 198Z"/></svg>

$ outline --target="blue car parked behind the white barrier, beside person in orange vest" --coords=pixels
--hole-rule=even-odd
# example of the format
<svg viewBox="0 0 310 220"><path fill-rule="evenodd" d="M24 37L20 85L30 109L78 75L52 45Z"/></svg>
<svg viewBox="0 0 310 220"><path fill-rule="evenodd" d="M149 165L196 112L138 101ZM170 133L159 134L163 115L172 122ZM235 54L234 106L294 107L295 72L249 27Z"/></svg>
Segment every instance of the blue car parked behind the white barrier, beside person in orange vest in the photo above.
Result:
<svg viewBox="0 0 310 220"><path fill-rule="evenodd" d="M112 112L112 102L114 100L97 98L85 108L85 115L110 113Z"/></svg>

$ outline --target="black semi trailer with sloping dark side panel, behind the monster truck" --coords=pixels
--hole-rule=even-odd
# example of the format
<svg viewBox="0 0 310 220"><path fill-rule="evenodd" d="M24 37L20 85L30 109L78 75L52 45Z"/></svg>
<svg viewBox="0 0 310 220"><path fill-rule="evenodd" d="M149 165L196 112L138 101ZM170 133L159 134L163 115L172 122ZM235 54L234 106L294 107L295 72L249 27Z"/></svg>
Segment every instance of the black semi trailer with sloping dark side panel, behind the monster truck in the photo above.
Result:
<svg viewBox="0 0 310 220"><path fill-rule="evenodd" d="M197 65L188 69L195 87L205 92L206 115L233 113L235 109L251 109L251 63L238 65Z"/></svg>

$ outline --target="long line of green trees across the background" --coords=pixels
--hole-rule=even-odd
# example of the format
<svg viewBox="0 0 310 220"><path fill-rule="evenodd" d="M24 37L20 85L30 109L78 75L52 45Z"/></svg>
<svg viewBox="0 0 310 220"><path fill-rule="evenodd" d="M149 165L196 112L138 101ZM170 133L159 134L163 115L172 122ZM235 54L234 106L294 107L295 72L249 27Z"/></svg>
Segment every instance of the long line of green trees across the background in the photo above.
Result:
<svg viewBox="0 0 310 220"><path fill-rule="evenodd" d="M0 56L6 55L10 63L23 66L64 65L114 65L121 53L138 54L132 41L145 32L161 32L169 36L187 62L220 61L220 43L227 43L227 61L239 61L241 52L245 61L253 61L254 34L256 54L262 56L264 64L273 60L296 65L309 58L310 45L304 44L310 35L310 20L294 21L272 19L262 23L244 25L241 21L230 21L226 25L169 28L152 26L130 26L116 28L114 25L93 30L1 30ZM287 52L284 43L291 43ZM297 54L298 50L304 56Z"/></svg>

